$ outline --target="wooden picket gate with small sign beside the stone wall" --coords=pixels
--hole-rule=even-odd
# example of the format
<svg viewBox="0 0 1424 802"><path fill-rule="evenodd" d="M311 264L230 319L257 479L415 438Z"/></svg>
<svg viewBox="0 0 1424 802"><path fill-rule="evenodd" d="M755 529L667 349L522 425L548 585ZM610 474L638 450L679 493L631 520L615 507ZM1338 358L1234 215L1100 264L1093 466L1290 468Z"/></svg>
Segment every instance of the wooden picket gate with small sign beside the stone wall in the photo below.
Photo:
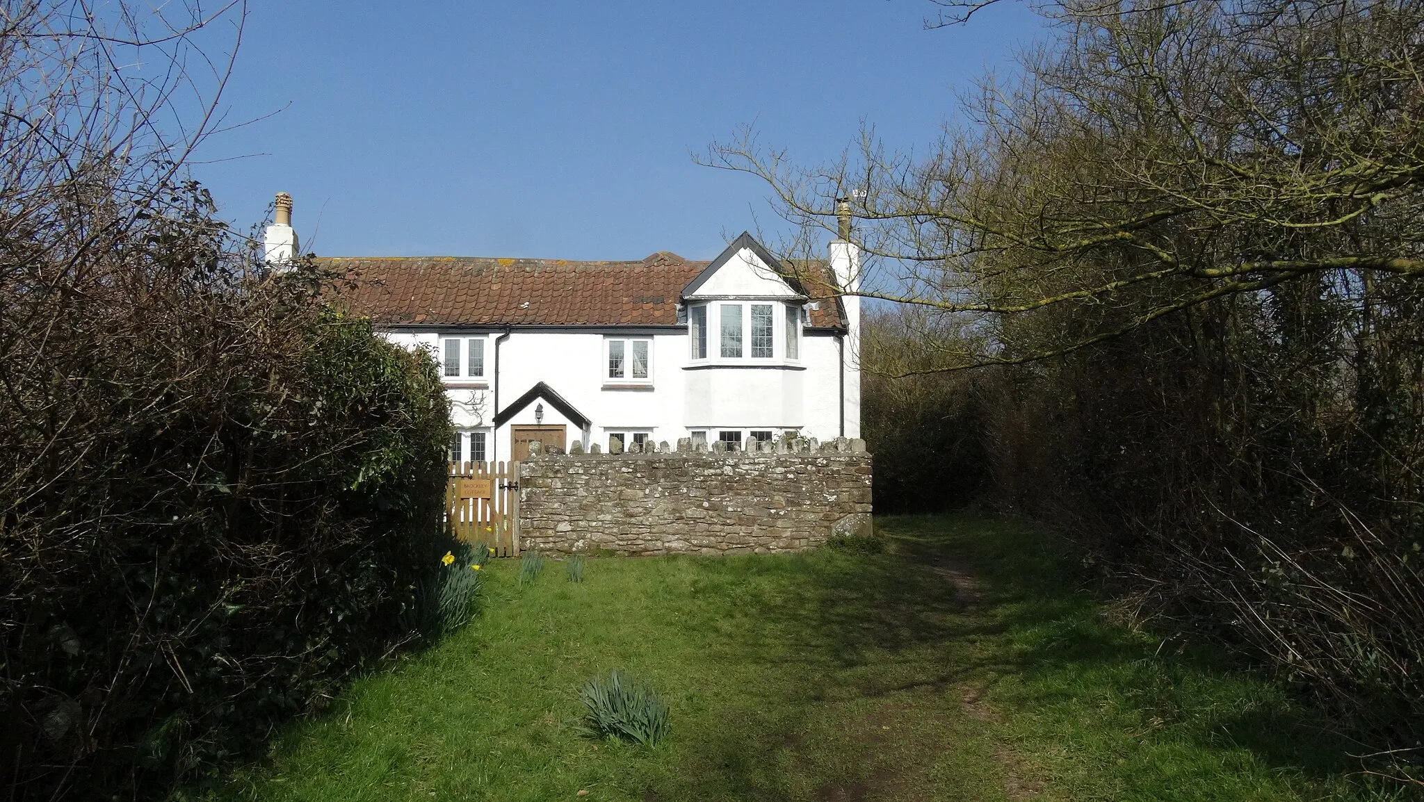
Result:
<svg viewBox="0 0 1424 802"><path fill-rule="evenodd" d="M497 557L520 553L520 463L450 463L446 526L466 543L483 543Z"/></svg>

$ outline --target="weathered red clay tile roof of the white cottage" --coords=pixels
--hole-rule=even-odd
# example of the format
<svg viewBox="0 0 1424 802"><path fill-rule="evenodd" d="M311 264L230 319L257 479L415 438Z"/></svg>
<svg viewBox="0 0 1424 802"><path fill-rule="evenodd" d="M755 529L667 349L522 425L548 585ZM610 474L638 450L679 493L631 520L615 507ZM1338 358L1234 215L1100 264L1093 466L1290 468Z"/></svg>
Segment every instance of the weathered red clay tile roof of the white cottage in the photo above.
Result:
<svg viewBox="0 0 1424 802"><path fill-rule="evenodd" d="M637 262L483 256L326 256L342 296L376 323L676 325L682 288L711 262L659 251ZM836 326L834 298L813 291L812 326Z"/></svg>

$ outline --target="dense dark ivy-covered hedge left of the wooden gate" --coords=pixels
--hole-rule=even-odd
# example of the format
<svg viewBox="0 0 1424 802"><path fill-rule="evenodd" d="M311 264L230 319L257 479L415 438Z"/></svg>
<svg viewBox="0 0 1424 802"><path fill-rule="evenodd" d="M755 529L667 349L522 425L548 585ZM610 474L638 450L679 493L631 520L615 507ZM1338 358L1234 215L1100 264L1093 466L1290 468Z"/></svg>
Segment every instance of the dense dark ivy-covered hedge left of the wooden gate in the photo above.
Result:
<svg viewBox="0 0 1424 802"><path fill-rule="evenodd" d="M433 360L315 268L258 269L198 188L122 224L0 239L0 785L23 799L201 779L441 625Z"/></svg>

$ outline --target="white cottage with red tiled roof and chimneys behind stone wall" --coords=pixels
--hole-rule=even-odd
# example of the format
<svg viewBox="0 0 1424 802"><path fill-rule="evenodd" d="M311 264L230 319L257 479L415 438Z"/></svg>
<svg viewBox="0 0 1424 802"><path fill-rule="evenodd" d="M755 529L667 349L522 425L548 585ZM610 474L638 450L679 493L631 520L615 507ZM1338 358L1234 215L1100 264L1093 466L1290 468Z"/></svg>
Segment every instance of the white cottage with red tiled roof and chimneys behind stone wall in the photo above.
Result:
<svg viewBox="0 0 1424 802"><path fill-rule="evenodd" d="M286 204L269 259L296 252ZM844 238L826 262L796 268L749 234L711 262L666 251L320 262L355 282L352 309L379 332L437 356L456 462L520 460L533 440L607 450L860 436L859 299L836 291L856 289L859 252Z"/></svg>

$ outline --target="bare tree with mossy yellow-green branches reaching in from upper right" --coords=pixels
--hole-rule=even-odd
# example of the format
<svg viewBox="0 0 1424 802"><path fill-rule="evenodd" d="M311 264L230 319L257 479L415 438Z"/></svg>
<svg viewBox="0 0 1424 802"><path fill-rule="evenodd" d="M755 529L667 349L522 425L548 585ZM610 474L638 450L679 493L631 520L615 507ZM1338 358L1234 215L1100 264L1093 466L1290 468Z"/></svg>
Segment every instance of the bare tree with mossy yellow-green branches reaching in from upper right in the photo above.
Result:
<svg viewBox="0 0 1424 802"><path fill-rule="evenodd" d="M973 11L974 6L957 6ZM1415 0L1055 4L1058 40L926 157L867 130L806 168L753 131L706 162L832 229L856 198L862 295L978 319L943 370L1102 342L1292 282L1363 296L1424 276L1424 6ZM1027 325L1025 321L1032 321Z"/></svg>

